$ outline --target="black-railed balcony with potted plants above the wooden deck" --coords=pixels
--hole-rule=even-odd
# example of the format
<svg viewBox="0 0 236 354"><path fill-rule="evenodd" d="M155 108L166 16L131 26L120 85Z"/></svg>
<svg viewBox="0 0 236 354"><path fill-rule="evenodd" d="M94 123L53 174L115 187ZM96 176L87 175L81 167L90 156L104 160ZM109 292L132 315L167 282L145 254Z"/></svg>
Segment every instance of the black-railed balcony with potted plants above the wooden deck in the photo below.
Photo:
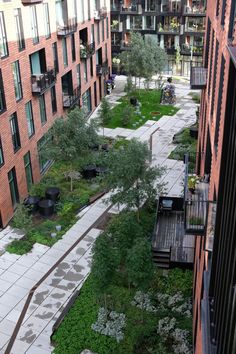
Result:
<svg viewBox="0 0 236 354"><path fill-rule="evenodd" d="M201 158L201 156L198 156ZM185 155L184 228L186 234L205 235L208 211L208 178L195 173L196 156Z"/></svg>

